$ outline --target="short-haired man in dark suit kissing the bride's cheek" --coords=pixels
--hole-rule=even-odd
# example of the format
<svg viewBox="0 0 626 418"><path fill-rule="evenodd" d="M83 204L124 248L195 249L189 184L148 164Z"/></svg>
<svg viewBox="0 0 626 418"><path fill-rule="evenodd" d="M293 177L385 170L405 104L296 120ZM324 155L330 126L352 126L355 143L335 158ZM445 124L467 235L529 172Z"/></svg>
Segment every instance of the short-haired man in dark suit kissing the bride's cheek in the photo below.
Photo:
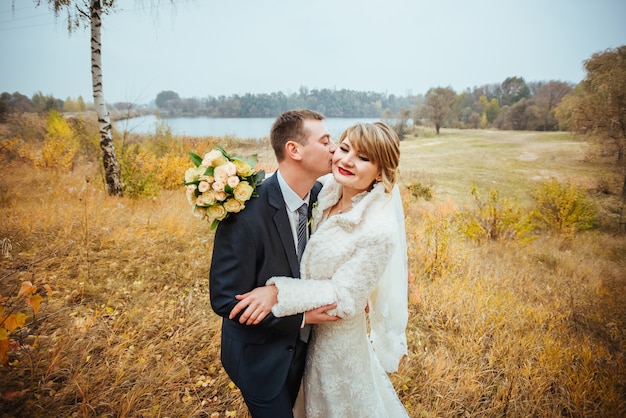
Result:
<svg viewBox="0 0 626 418"><path fill-rule="evenodd" d="M220 222L210 272L211 306L222 319L221 359L253 418L291 418L306 354L305 324L335 320L324 306L258 325L229 319L235 295L264 286L272 276L300 277L298 208L307 219L330 172L332 143L324 116L311 110L281 114L270 133L278 171L257 188L258 197ZM301 332L302 330L302 332Z"/></svg>

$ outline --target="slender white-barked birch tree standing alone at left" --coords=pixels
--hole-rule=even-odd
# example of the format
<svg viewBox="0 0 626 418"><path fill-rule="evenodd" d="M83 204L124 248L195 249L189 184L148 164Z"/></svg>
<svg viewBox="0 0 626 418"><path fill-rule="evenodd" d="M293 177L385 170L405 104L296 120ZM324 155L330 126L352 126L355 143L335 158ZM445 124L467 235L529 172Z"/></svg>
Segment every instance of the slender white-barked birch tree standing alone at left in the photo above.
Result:
<svg viewBox="0 0 626 418"><path fill-rule="evenodd" d="M89 25L91 28L91 79L93 87L93 99L98 114L100 125L100 148L102 149L102 163L107 192L111 196L122 195L122 181L120 167L113 146L113 132L111 118L104 101L102 85L102 43L101 28L102 14L107 14L113 9L115 0L46 0L52 7L54 15L58 17L61 12L67 13L67 30L72 33L81 26ZM36 0L39 7L43 0Z"/></svg>

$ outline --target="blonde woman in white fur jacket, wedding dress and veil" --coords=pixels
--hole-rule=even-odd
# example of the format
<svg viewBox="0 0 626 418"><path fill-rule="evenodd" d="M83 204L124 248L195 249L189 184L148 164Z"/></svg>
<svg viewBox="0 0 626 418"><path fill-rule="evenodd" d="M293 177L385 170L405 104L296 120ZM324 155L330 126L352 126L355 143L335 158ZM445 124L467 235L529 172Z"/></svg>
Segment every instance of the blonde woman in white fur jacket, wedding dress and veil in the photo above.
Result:
<svg viewBox="0 0 626 418"><path fill-rule="evenodd" d="M336 303L328 314L341 319L312 328L303 378L306 417L408 416L386 374L407 352L399 160L398 137L384 123L349 127L313 209L302 279L272 277L237 296L231 312L231 318L243 312L241 323L257 324L270 310L281 317Z"/></svg>

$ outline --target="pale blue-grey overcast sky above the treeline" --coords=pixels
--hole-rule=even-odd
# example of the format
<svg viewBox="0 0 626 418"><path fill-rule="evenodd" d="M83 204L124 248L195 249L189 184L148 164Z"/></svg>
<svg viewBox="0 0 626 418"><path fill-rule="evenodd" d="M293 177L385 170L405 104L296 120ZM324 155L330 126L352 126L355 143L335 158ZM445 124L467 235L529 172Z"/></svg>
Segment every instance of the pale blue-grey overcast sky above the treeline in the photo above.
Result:
<svg viewBox="0 0 626 418"><path fill-rule="evenodd" d="M12 8L12 3L14 7ZM0 92L93 101L90 33L47 1L0 0ZM456 92L585 77L626 45L625 0L117 0L103 17L107 102L297 93Z"/></svg>

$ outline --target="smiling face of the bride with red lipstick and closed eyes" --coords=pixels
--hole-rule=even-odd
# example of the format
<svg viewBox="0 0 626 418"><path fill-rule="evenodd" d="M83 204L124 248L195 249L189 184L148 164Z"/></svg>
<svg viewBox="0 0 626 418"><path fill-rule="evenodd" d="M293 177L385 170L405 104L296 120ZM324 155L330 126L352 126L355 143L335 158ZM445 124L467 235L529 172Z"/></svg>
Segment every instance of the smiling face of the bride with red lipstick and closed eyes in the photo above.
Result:
<svg viewBox="0 0 626 418"><path fill-rule="evenodd" d="M369 190L374 180L380 181L381 173L378 166L353 147L347 137L333 154L333 176L344 188L360 193Z"/></svg>

